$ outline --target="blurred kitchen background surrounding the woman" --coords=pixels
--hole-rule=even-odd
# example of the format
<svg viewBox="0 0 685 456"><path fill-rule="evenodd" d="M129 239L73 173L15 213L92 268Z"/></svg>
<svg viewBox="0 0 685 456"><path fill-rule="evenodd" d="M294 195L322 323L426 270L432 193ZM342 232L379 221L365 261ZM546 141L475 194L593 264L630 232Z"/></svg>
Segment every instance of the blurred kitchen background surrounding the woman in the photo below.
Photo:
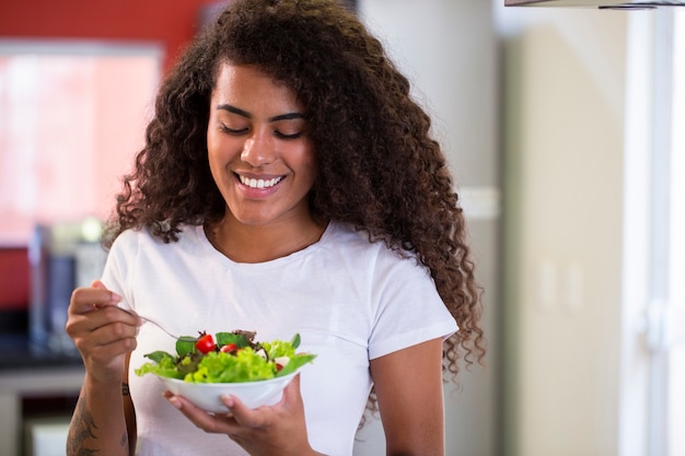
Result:
<svg viewBox="0 0 685 456"><path fill-rule="evenodd" d="M445 384L446 454L683 456L685 9L503 1L348 2L434 116L485 288L489 351ZM69 294L214 7L0 2L0 456L65 454ZM381 432L355 455L384 454Z"/></svg>

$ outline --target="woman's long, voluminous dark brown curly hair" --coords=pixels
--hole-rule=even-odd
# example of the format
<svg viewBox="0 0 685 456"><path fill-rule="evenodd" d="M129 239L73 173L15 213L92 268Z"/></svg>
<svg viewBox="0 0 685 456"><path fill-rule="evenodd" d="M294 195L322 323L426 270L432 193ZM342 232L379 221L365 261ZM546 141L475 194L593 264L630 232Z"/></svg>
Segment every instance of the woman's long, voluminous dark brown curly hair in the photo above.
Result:
<svg viewBox="0 0 685 456"><path fill-rule="evenodd" d="M182 224L223 215L206 131L210 94L225 61L256 66L299 95L316 161L312 212L416 254L460 326L444 346L445 370L456 374L460 360L480 360L480 290L430 118L381 43L333 0L239 0L195 40L160 89L106 245L140 227L174 242Z"/></svg>

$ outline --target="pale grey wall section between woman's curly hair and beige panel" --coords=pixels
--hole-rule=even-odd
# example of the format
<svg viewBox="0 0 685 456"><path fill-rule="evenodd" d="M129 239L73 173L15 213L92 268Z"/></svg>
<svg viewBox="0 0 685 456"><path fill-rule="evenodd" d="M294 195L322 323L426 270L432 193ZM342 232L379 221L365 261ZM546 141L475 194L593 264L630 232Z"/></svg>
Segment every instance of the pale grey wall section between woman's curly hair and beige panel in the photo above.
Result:
<svg viewBox="0 0 685 456"><path fill-rule="evenodd" d="M484 0L360 0L362 20L379 35L433 116L469 221L477 276L485 287L485 366L445 386L446 454L497 452L499 153L497 37ZM356 456L385 454L378 422L360 433Z"/></svg>

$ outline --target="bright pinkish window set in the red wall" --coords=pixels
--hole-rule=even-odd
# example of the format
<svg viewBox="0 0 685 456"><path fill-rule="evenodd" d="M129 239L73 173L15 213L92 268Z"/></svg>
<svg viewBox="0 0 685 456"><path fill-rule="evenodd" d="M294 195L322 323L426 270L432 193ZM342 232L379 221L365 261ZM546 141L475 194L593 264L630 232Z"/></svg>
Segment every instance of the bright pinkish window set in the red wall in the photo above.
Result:
<svg viewBox="0 0 685 456"><path fill-rule="evenodd" d="M155 46L0 40L0 245L105 218L141 148Z"/></svg>

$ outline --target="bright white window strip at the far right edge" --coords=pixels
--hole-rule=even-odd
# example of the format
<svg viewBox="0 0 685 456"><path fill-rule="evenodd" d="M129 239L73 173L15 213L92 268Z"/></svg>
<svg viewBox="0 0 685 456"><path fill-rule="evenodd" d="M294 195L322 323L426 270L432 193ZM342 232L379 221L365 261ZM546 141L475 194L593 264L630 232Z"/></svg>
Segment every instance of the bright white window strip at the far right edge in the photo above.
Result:
<svg viewBox="0 0 685 456"><path fill-rule="evenodd" d="M685 11L630 16L622 456L685 454Z"/></svg>

